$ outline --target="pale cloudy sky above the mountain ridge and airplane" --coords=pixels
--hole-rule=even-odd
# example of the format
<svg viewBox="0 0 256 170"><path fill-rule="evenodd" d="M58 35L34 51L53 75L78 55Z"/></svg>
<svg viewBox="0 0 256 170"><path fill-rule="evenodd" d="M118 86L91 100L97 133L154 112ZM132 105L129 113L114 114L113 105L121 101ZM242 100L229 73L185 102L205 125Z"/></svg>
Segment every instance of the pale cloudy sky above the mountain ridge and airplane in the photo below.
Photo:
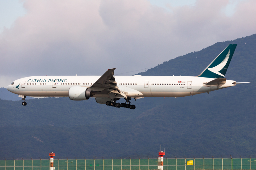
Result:
<svg viewBox="0 0 256 170"><path fill-rule="evenodd" d="M150 68L256 33L255 9L255 0L0 0L0 87Z"/></svg>

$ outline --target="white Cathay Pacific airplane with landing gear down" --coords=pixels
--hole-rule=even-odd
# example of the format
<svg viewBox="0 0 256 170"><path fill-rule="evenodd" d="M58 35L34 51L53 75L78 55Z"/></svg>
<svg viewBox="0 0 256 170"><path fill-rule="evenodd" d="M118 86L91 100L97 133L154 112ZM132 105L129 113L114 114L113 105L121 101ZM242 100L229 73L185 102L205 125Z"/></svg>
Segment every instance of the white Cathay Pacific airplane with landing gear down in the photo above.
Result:
<svg viewBox="0 0 256 170"><path fill-rule="evenodd" d="M26 96L69 97L70 100L95 98L97 103L113 107L135 109L131 99L144 97L185 97L240 83L227 80L225 74L235 52L236 44L229 44L198 76L114 76L108 69L102 76L32 76L20 78L7 90L22 98ZM118 100L125 99L124 103Z"/></svg>

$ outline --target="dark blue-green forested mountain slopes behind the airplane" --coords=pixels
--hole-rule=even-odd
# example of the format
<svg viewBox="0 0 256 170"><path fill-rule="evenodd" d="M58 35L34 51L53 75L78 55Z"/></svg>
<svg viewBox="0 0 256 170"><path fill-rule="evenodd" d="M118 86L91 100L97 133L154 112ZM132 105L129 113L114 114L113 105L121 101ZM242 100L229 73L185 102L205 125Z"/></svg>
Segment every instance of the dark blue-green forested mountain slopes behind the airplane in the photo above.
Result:
<svg viewBox="0 0 256 170"><path fill-rule="evenodd" d="M219 42L140 75L199 75L230 43L226 78L251 84L183 98L143 98L135 110L67 97L0 100L0 159L102 156L249 157L255 155L256 34ZM246 44L245 44L246 43ZM197 57L197 58L196 58ZM240 158L240 157L239 157Z"/></svg>

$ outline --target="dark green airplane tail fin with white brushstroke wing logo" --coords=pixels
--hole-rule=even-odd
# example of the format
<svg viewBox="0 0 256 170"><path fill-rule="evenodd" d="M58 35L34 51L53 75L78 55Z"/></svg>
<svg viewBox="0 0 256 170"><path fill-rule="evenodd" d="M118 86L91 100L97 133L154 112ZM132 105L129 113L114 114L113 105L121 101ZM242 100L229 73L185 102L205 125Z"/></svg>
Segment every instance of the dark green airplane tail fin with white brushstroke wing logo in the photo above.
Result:
<svg viewBox="0 0 256 170"><path fill-rule="evenodd" d="M224 78L237 44L229 44L198 77Z"/></svg>

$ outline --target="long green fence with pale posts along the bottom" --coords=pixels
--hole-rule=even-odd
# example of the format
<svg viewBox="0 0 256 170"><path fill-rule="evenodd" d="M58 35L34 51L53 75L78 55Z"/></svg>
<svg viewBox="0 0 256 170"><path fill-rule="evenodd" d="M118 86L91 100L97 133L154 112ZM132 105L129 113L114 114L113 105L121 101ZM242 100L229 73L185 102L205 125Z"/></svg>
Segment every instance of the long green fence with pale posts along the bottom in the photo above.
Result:
<svg viewBox="0 0 256 170"><path fill-rule="evenodd" d="M193 160L193 165L187 165ZM54 159L55 170L155 170L157 159ZM49 170L49 159L0 160L0 170ZM256 158L164 159L164 170L255 169Z"/></svg>

